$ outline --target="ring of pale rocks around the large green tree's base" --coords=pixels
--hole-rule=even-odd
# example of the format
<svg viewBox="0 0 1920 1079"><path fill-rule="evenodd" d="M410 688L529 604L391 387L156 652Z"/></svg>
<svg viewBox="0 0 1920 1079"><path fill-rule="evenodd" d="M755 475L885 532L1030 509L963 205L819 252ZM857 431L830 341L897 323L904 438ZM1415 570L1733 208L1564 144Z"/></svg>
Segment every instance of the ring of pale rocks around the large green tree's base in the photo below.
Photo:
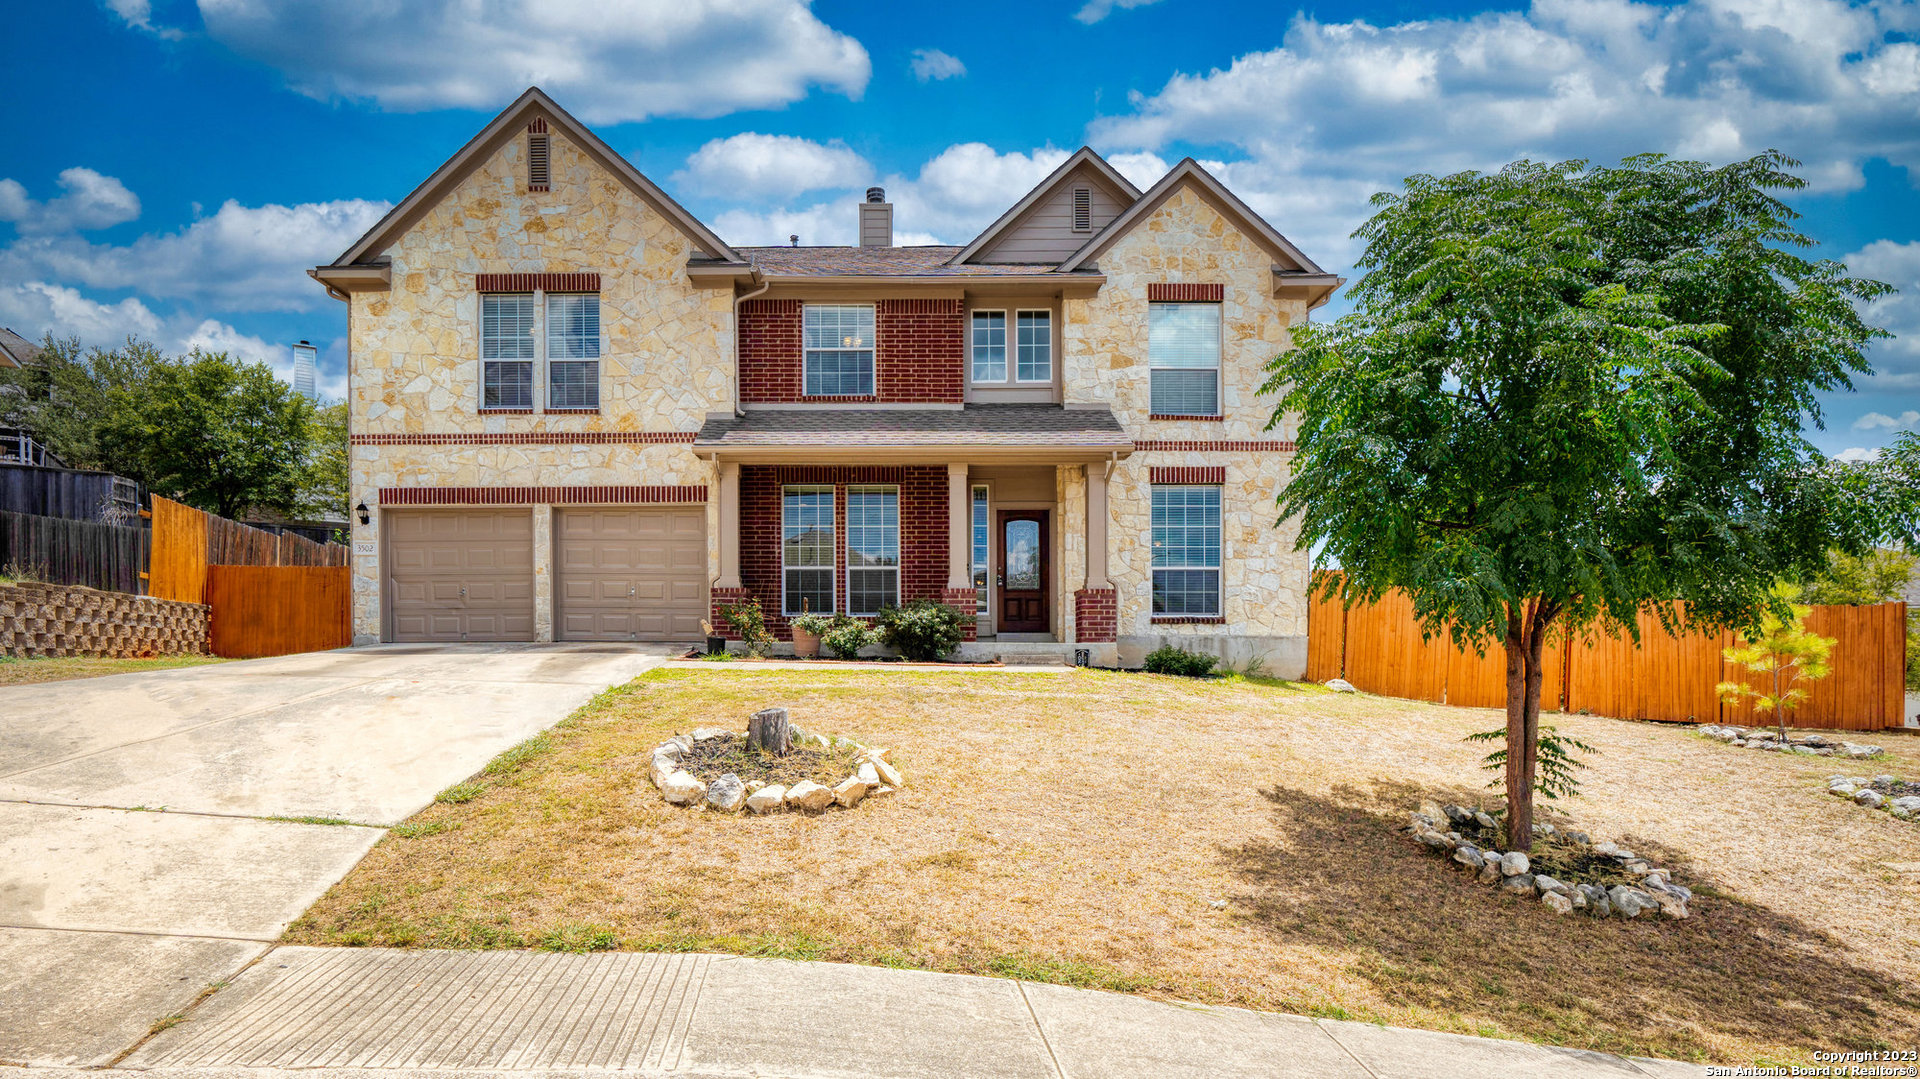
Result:
<svg viewBox="0 0 1920 1079"><path fill-rule="evenodd" d="M1448 827L1440 826L1446 818ZM1546 874L1534 874L1532 860L1524 851L1500 852L1482 849L1459 833L1459 827L1478 826L1494 831L1498 822L1484 810L1467 806L1440 806L1440 816L1415 812L1407 818L1407 829L1421 847L1452 858L1461 870L1484 885L1492 885L1523 899L1540 899L1540 904L1555 914L1574 910L1590 918L1640 918L1661 912L1667 918L1686 918L1688 900L1693 893L1672 883L1672 872L1653 866L1617 843L1594 843L1584 831L1557 831L1551 824L1536 824L1534 835L1559 835L1596 856L1611 860L1620 874L1634 877L1634 885L1565 883Z"/></svg>

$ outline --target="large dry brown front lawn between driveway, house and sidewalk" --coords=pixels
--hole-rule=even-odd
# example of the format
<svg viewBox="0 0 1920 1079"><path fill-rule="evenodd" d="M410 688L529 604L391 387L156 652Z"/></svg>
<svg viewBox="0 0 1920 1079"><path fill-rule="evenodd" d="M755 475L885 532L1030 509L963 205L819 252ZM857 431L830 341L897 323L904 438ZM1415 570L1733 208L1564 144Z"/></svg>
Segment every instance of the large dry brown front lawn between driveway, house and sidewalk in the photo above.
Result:
<svg viewBox="0 0 1920 1079"><path fill-rule="evenodd" d="M852 812L668 806L672 731L793 708L887 745ZM390 833L290 931L311 945L622 947L912 966L1722 1062L1912 1046L1920 824L1824 793L1920 774L1684 728L1596 745L1549 814L1674 866L1686 922L1561 918L1400 831L1486 803L1490 710L1110 672L657 670ZM478 791L478 793L474 793ZM1227 900L1215 908L1213 900Z"/></svg>

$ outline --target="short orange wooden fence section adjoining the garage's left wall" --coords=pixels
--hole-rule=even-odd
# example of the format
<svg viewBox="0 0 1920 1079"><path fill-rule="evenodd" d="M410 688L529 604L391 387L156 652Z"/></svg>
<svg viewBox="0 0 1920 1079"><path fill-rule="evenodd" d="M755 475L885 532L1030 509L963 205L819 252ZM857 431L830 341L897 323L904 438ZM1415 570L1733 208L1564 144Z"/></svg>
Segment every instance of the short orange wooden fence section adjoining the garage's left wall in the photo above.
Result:
<svg viewBox="0 0 1920 1079"><path fill-rule="evenodd" d="M348 566L207 566L213 655L344 649L353 643Z"/></svg>

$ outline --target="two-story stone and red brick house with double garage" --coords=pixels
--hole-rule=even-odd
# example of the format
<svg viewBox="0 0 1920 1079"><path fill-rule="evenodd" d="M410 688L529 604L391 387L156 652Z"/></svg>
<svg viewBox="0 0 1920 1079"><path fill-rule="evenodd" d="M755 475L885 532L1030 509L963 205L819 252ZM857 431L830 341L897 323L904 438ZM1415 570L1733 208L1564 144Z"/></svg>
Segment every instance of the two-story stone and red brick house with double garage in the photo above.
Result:
<svg viewBox="0 0 1920 1079"><path fill-rule="evenodd" d="M359 641L695 641L931 597L968 651L1306 662L1258 396L1323 273L1081 150L966 246L737 248L528 90L313 276L349 305Z"/></svg>

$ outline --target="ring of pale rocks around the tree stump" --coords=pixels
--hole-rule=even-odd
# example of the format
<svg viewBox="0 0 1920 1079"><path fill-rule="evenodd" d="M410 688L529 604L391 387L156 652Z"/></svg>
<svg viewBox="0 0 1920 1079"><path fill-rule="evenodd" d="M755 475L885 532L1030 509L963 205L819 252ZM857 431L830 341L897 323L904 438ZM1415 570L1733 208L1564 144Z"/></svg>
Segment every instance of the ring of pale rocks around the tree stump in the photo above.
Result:
<svg viewBox="0 0 1920 1079"><path fill-rule="evenodd" d="M781 708L781 712L785 708ZM822 812L829 806L854 808L868 797L891 795L906 785L899 768L887 760L887 749L872 749L851 737L828 737L801 728L791 728L793 745L824 751L852 751L854 772L831 787L826 783L814 783L812 779L801 779L799 783L787 787L758 779L741 779L733 772L726 772L714 781L705 783L682 766L685 756L693 753L695 745L730 737L733 733L735 731L724 728L693 728L693 733L676 733L674 737L653 747L649 778L660 791L660 797L676 806L701 806L714 812Z"/></svg>

